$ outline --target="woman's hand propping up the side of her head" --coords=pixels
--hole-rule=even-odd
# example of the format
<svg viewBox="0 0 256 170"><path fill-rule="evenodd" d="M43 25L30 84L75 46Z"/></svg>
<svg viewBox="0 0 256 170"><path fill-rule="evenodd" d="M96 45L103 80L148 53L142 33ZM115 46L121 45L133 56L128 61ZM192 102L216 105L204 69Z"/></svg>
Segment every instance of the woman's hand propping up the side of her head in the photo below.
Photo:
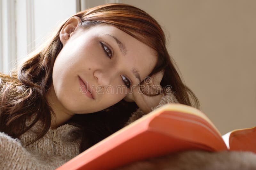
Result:
<svg viewBox="0 0 256 170"><path fill-rule="evenodd" d="M163 89L160 85L160 82L162 81L163 76L164 76L164 71L162 70L153 77L154 79L151 79L151 78L148 79L150 83L151 82L154 83L152 84L152 85L155 85L153 86L153 89L158 89L158 90ZM146 81L143 84L144 89L145 90L149 89L149 94L156 94L156 93L153 93L153 90L150 90L151 88ZM151 107L155 107L159 104L163 94L160 94L157 96L146 96L140 91L140 86L143 87L143 85L138 85L137 87L133 88L132 94L128 94L127 96L125 96L124 101L135 102L145 114L148 114L149 112L152 111Z"/></svg>

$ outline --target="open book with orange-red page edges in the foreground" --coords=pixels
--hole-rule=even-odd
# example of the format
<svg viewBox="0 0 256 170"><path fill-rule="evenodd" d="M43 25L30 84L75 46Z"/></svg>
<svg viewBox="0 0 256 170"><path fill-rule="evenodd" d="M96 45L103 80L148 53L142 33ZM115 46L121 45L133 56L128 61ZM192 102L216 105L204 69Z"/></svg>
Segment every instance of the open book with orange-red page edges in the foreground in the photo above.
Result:
<svg viewBox="0 0 256 170"><path fill-rule="evenodd" d="M114 169L184 150L256 153L256 127L221 135L194 107L168 103L116 131L57 170Z"/></svg>

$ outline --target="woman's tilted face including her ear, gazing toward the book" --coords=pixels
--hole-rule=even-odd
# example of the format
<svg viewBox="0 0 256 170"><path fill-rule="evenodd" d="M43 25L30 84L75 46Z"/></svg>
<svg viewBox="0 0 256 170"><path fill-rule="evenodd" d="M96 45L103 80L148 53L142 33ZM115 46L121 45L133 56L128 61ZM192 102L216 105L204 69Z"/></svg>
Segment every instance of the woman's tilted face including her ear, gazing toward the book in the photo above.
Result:
<svg viewBox="0 0 256 170"><path fill-rule="evenodd" d="M156 52L112 25L82 31L74 23L64 25L60 32L63 48L54 62L54 91L72 113L97 112L122 100L151 73ZM77 32L69 37L74 29ZM133 69L138 70L140 80ZM85 95L90 92L80 79L93 98Z"/></svg>

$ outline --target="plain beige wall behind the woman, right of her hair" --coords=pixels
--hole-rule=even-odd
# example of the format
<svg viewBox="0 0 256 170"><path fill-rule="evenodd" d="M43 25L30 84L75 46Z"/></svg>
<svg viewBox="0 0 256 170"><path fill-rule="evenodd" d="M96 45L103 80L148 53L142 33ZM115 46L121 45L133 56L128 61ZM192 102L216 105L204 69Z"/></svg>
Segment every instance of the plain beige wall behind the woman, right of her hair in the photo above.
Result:
<svg viewBox="0 0 256 170"><path fill-rule="evenodd" d="M121 3L145 10L164 27L183 80L221 134L256 126L256 1Z"/></svg>

